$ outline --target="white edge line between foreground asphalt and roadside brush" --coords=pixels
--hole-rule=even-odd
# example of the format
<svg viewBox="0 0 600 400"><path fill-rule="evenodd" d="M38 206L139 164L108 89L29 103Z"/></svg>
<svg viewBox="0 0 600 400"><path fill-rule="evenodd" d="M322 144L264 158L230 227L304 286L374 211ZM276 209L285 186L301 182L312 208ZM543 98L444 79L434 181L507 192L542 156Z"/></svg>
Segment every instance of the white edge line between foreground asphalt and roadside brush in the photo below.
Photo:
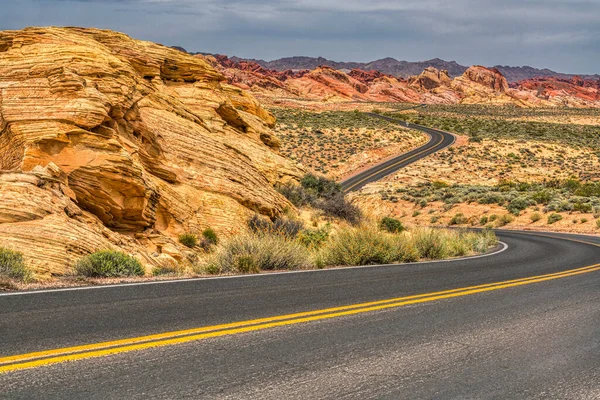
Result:
<svg viewBox="0 0 600 400"><path fill-rule="evenodd" d="M502 248L500 250L494 251L492 253L485 253L485 254L480 254L477 256L462 257L462 258L451 258L449 260L418 261L418 262L409 262L409 263L400 263L400 264L359 265L359 266L355 266L355 267L306 269L306 270L301 270L301 271L281 271L281 272L268 272L268 273L264 273L264 274L227 275L227 276L173 279L173 280L151 281L151 282L116 283L113 285L80 286L80 287L61 288L61 289L32 290L29 292L8 292L8 293L0 293L0 297L23 296L23 295L32 295L32 294L42 294L42 293L72 292L72 291L78 291L78 290L92 290L92 289L110 289L110 288L117 289L117 288L128 287L128 286L159 285L159 284L166 284L166 283L186 283L186 282L209 281L209 280L218 280L218 279L261 278L261 277L268 277L268 276L274 276L274 275L334 272L334 271L343 271L343 270L348 270L348 269L367 269L367 268L376 268L376 267L403 267L403 266L407 266L407 265L418 265L418 264L448 263L448 262L466 261L466 260L473 260L476 258L495 256L496 254L500 254L503 251L505 251L506 249L508 249L508 245L506 243L504 243L502 241L498 241L498 244L502 245Z"/></svg>

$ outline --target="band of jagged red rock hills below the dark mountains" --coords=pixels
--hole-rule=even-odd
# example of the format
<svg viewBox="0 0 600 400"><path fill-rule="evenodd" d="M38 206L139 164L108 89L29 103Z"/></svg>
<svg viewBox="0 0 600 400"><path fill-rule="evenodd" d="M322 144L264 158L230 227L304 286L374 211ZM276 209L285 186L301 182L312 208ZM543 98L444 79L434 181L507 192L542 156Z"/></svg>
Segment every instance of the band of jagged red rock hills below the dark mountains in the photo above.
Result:
<svg viewBox="0 0 600 400"><path fill-rule="evenodd" d="M238 87L265 99L307 99L325 102L375 101L428 104L515 104L525 107L572 105L598 107L595 81L538 79L509 85L495 68L472 66L454 79L433 66L408 80L377 70L334 69L276 71L251 61L225 56L204 57ZM542 87L540 89L540 87Z"/></svg>

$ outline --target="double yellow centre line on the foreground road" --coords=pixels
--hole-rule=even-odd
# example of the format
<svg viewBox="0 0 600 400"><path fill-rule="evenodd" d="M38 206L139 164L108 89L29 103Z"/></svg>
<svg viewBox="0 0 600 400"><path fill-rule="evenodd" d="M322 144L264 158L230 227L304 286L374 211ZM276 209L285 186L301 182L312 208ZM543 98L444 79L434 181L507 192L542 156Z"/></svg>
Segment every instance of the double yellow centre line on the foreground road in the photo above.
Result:
<svg viewBox="0 0 600 400"><path fill-rule="evenodd" d="M154 339L153 341L146 341L146 342L142 342L142 343L135 342L136 340L139 341L142 338L134 338L134 339L129 339L129 343L132 343L132 344L123 345L121 347L112 347L112 348L96 347L96 348L94 348L94 346L99 346L99 345L105 346L106 343L124 343L125 341L127 341L127 339L124 341L104 342L104 343L97 344L97 345L79 346L78 347L79 349L82 349L82 350L89 349L89 351L85 351L82 353L76 353L76 354L65 354L66 352L68 352L74 348L57 349L57 350L53 350L53 351L49 351L49 352L30 353L30 354L25 354L25 355L21 355L21 356L7 357L7 358L1 359L1 360L3 362L7 362L6 361L7 359L12 358L13 361L17 361L19 359L19 357L29 357L29 359L31 359L32 354L37 354L37 357L39 358L42 355L43 356L51 356L53 352L54 352L54 354L56 354L56 352L61 352L61 351L62 351L63 355L56 356L56 357L50 357L50 358L31 360L31 361L21 361L21 362L17 362L17 363L13 363L13 364L3 365L3 366L0 366L0 373L17 371L17 370L22 370L22 369L26 369L26 368L35 368L35 367L40 367L40 366L44 366L44 365L62 363L62 362L66 362L66 361L82 360L82 359L87 359L87 358L102 357L102 356L125 353L125 352L130 352L130 351L149 349L149 348L154 348L154 347L169 346L169 345L186 343L186 342L197 341L197 340L201 340L201 339L207 339L207 338L213 338L213 337L219 337L219 336L228 336L228 335L235 335L235 334L244 333L244 332L259 331L259 330L264 330L264 329L269 329L269 328L274 328L274 327L279 327L279 326L296 325L296 324L300 324L300 323L313 322L313 321L319 321L319 320L325 320L325 319L331 319L331 318L338 318L338 317L342 317L342 316L356 315L356 314L361 314L361 313L366 313L366 312L402 307L402 306L406 306L406 305L410 305L410 304L419 304L419 303L426 303L426 302L437 301L437 300L442 300L442 299L449 299L449 298L454 298L454 297L468 296L468 295L472 295L472 294L476 294L476 293L483 293L483 292L500 290L500 289L505 289L505 288L510 288L510 287L522 286L522 285L530 285L533 283L544 282L544 281L554 280L554 279L562 279L565 277L586 274L586 273L590 273L590 272L594 272L594 271L598 271L598 270L600 270L600 264L591 265L591 266L583 267L583 268L577 268L577 269L554 273L554 274L539 275L539 276L535 276L535 277L515 279L515 280L497 282L497 283L492 283L492 284L487 284L487 285L472 286L472 287L467 287L467 288L462 288L462 289L453 289L453 290L444 291L444 292L435 292L435 293L429 293L429 294L423 294L423 295L408 296L408 297L398 298L398 299L382 300L380 302L355 304L352 306L336 307L336 308L312 311L312 312L307 312L307 313L282 315L282 316L277 316L277 317L273 317L273 318L263 318L260 320L244 321L244 322L237 323L237 325L236 325L236 323L234 323L234 324L217 325L214 327L205 327L205 328L201 328L200 330L196 330L196 332L201 332L201 330L210 330L210 331L192 334L190 336L184 336L184 337L170 337L170 338L164 338L164 339L158 339L158 340ZM395 301L395 300L397 300L397 301ZM263 322L261 323L258 321L263 321ZM249 325L249 324L252 324L252 325ZM229 327L229 328L223 328L223 327ZM216 329L220 329L220 330L216 330ZM195 331L195 330L179 331L178 334L181 334L181 332L192 332L192 331ZM148 337L158 338L160 336L164 337L165 335L168 335L168 334L146 336L145 338L148 338ZM173 335L173 333L171 333L171 335ZM148 339L146 339L146 340L148 340ZM19 360L24 360L24 359L25 358L21 358Z"/></svg>

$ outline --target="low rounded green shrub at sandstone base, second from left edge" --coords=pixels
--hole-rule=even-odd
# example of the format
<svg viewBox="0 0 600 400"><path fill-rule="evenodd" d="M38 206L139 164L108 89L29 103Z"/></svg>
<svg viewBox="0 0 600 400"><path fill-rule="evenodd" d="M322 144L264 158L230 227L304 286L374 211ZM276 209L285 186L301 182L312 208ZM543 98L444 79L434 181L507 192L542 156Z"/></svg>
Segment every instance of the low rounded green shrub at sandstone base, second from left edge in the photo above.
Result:
<svg viewBox="0 0 600 400"><path fill-rule="evenodd" d="M93 278L117 278L144 275L144 267L138 260L120 251L102 250L77 262L78 275Z"/></svg>

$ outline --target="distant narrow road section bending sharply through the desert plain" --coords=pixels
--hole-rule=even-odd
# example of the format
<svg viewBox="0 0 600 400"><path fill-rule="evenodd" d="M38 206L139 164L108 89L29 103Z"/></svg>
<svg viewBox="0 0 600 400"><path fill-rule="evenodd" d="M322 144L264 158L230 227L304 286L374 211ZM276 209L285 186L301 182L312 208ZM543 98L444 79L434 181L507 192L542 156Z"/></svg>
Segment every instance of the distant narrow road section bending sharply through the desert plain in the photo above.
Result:
<svg viewBox="0 0 600 400"><path fill-rule="evenodd" d="M343 180L341 183L342 189L345 193L360 190L367 183L378 181L401 168L406 167L409 164L414 163L424 157L427 157L435 152L445 149L454 143L454 135L440 131L437 129L428 128L426 126L409 124L406 121L402 121L396 118L386 117L376 113L366 113L369 116L385 119L390 122L397 123L404 127L411 129L417 129L421 132L425 132L429 136L429 142L425 143L421 147L417 147L407 153L401 154L380 164L377 164L366 171L362 171L348 179Z"/></svg>

